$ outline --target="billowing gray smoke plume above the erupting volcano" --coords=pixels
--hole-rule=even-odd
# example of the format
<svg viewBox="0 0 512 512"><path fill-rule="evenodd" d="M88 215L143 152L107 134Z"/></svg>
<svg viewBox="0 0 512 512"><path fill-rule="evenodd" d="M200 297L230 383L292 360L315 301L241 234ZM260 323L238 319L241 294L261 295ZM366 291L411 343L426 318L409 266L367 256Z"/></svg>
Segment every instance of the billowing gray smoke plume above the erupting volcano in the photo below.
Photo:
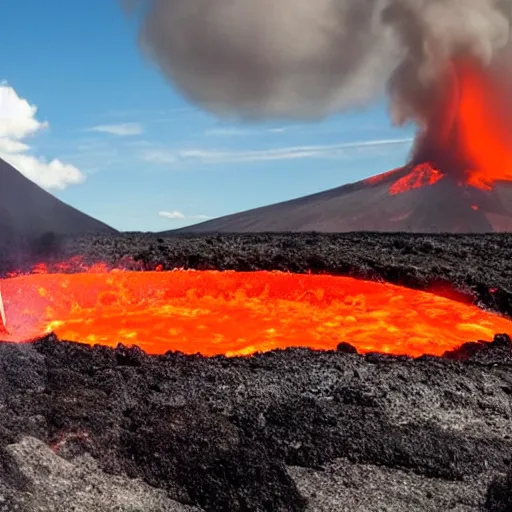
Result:
<svg viewBox="0 0 512 512"><path fill-rule="evenodd" d="M130 0L140 43L217 115L318 118L389 93L421 121L453 58L489 65L512 0Z"/></svg>

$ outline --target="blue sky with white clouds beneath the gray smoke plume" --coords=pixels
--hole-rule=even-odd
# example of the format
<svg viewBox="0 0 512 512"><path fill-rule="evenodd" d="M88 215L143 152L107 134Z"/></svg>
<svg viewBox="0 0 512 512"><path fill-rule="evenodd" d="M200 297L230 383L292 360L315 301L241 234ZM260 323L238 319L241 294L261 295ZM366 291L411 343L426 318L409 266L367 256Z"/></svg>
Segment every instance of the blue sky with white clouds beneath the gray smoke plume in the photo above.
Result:
<svg viewBox="0 0 512 512"><path fill-rule="evenodd" d="M391 127L384 103L315 123L202 112L143 58L116 0L2 0L0 42L0 81L16 94L0 102L0 154L121 230L173 229L329 189L396 167L410 149L411 128ZM22 100L39 124L16 131L27 109L15 125L1 112Z"/></svg>

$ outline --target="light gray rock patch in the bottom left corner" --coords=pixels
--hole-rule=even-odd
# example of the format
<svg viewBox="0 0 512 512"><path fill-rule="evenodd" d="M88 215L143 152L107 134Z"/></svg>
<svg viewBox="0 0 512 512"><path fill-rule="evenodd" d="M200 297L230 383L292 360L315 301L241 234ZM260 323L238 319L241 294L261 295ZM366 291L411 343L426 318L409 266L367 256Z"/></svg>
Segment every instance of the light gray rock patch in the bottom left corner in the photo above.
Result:
<svg viewBox="0 0 512 512"><path fill-rule="evenodd" d="M45 443L24 437L5 448L18 489L4 482L0 512L192 512L140 480L109 475L95 460L59 457Z"/></svg>

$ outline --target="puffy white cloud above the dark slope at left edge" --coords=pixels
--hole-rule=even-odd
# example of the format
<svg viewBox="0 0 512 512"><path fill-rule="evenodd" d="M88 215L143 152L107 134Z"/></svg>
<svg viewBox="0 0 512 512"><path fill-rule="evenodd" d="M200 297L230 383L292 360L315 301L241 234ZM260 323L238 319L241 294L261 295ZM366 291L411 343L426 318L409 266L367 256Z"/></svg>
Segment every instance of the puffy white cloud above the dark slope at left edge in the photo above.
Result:
<svg viewBox="0 0 512 512"><path fill-rule="evenodd" d="M48 127L48 122L39 121L36 114L35 105L0 82L0 158L43 188L64 189L84 181L85 176L75 166L29 153L30 146L23 140Z"/></svg>

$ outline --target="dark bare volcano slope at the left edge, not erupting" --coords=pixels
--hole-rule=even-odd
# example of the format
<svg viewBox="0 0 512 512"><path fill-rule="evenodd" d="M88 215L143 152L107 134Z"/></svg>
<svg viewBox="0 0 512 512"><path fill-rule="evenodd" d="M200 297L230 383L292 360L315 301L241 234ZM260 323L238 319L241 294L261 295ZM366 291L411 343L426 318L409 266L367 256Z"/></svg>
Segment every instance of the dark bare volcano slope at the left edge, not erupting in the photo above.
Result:
<svg viewBox="0 0 512 512"><path fill-rule="evenodd" d="M116 230L76 210L0 159L0 241L9 245L45 233L111 234Z"/></svg>

